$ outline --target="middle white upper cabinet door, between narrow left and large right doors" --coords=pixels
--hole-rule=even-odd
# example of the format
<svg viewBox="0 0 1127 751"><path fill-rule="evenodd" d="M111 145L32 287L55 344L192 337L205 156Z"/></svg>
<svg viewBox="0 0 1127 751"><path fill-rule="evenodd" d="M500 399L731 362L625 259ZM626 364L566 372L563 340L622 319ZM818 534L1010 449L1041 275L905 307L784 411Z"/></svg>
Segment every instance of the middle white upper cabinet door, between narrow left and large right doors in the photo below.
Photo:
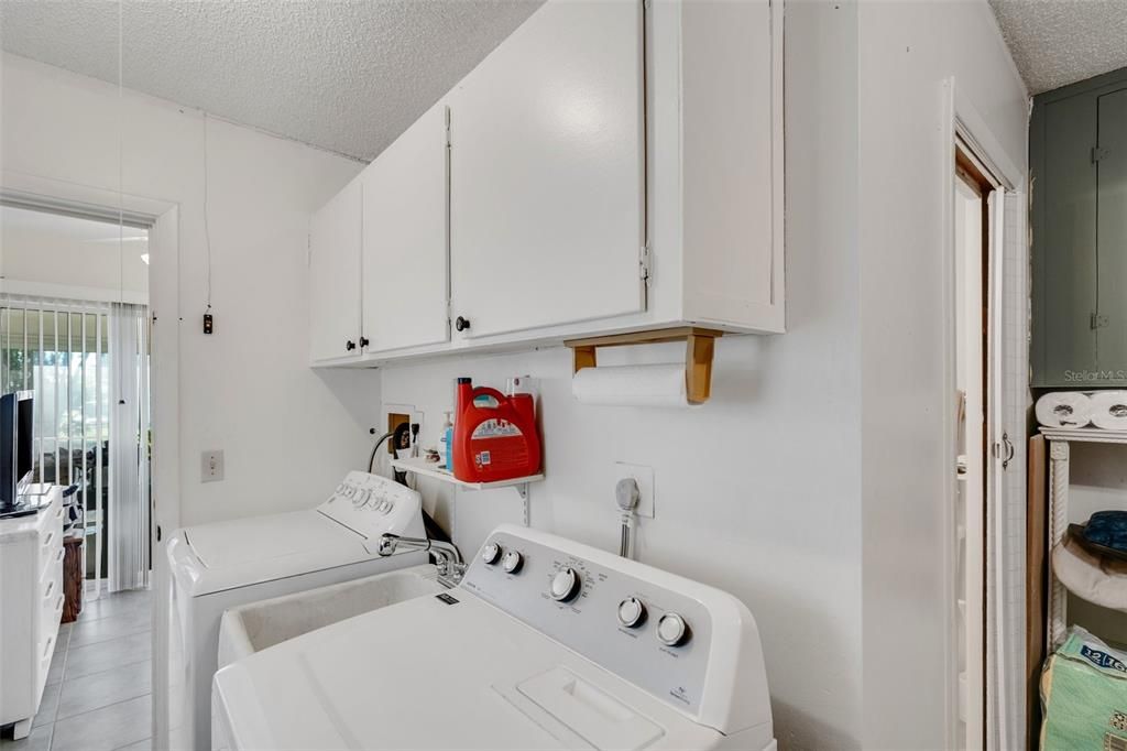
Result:
<svg viewBox="0 0 1127 751"><path fill-rule="evenodd" d="M369 352L450 339L446 106L364 170L364 336Z"/></svg>

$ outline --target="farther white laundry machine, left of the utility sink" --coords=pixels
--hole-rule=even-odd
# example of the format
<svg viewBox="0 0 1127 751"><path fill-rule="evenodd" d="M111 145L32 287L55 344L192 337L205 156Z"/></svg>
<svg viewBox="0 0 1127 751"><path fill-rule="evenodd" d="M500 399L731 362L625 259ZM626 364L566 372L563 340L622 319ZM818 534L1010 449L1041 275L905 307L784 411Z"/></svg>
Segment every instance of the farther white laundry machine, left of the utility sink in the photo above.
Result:
<svg viewBox="0 0 1127 751"><path fill-rule="evenodd" d="M158 724L168 737L156 748L211 748L224 610L426 563L425 551L380 557L384 532L424 537L419 494L360 471L317 509L178 530L168 541L168 717Z"/></svg>

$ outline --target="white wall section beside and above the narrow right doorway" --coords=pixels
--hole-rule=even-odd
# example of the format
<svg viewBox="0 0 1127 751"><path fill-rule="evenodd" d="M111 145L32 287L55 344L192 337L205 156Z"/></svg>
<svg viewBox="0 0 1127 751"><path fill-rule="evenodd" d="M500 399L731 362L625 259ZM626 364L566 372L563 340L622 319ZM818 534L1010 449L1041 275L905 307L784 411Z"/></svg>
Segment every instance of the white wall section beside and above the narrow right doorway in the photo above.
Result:
<svg viewBox="0 0 1127 751"><path fill-rule="evenodd" d="M866 748L948 745L944 143L953 76L1026 169L1026 90L985 0L858 3Z"/></svg>

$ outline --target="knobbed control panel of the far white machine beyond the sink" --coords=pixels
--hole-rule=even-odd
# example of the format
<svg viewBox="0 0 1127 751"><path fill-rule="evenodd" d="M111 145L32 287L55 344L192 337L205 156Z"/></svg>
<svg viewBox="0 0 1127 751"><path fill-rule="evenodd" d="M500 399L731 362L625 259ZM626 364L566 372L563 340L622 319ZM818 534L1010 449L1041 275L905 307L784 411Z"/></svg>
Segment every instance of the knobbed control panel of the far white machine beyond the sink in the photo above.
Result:
<svg viewBox="0 0 1127 751"><path fill-rule="evenodd" d="M420 509L417 491L387 477L352 471L318 511L375 541L384 532L414 534Z"/></svg>

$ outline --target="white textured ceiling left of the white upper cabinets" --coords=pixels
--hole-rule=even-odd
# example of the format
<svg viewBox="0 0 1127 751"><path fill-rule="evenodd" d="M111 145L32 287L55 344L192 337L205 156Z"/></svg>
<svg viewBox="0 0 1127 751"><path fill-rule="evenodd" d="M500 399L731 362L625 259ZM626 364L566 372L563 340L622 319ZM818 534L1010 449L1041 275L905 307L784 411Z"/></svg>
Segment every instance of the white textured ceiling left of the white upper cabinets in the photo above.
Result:
<svg viewBox="0 0 1127 751"><path fill-rule="evenodd" d="M371 160L540 0L124 0L125 86ZM116 1L0 0L3 50L117 81Z"/></svg>

